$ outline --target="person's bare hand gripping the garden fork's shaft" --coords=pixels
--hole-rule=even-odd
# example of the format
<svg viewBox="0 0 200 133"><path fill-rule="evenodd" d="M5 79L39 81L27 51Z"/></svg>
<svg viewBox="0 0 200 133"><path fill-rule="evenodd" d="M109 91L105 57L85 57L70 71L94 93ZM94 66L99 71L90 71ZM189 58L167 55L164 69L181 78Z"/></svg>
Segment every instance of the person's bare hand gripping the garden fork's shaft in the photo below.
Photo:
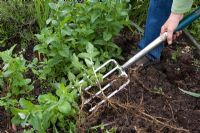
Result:
<svg viewBox="0 0 200 133"><path fill-rule="evenodd" d="M183 14L171 13L168 20L161 28L161 34L167 32L167 42L168 44L172 44L172 41L178 37L182 31L176 32L173 34L179 22L183 18Z"/></svg>

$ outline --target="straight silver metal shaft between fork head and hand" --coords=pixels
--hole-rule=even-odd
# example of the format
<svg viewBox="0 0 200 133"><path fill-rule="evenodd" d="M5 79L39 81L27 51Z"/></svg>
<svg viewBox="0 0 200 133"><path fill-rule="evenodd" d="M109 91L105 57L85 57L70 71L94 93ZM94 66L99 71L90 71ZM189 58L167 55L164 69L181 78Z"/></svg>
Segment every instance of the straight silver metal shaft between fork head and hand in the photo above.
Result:
<svg viewBox="0 0 200 133"><path fill-rule="evenodd" d="M155 47L157 47L160 43L164 42L166 39L167 39L167 32L160 35L152 43L147 45L144 49L142 49L140 52L138 52L135 56L130 58L126 63L124 63L124 65L122 65L122 68L123 69L129 68L130 65L132 65L133 63L135 63L136 61L141 59L143 56L145 56L147 53L149 53L151 50L153 50Z"/></svg>

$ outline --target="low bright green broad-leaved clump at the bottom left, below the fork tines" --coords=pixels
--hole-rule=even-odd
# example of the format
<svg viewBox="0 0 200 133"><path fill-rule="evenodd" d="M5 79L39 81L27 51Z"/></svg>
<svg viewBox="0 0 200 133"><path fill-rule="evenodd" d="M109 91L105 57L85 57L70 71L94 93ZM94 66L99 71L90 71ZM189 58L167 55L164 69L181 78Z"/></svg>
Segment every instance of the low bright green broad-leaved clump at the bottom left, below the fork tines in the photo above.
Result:
<svg viewBox="0 0 200 133"><path fill-rule="evenodd" d="M38 105L21 98L19 103L22 109L12 109L12 122L23 127L31 125L40 133L45 133L51 124L54 131L57 131L56 124L64 132L74 131L73 119L78 109L75 102L77 92L69 90L63 84L57 86L56 96L51 93L40 95Z"/></svg>

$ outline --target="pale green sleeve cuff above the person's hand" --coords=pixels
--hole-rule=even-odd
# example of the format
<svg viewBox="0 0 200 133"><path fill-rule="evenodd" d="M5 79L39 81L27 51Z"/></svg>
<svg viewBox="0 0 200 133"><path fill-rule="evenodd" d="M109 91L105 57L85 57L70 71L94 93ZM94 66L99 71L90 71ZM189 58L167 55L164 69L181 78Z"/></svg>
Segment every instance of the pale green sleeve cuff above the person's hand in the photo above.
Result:
<svg viewBox="0 0 200 133"><path fill-rule="evenodd" d="M188 12L193 4L193 0L173 0L172 12L184 14Z"/></svg>

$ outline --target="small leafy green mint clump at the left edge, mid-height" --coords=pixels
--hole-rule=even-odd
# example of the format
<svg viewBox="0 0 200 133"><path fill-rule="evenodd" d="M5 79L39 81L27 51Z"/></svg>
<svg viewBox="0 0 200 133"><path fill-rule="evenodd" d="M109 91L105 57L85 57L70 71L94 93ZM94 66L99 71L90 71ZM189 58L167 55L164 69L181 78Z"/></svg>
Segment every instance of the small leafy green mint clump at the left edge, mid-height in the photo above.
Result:
<svg viewBox="0 0 200 133"><path fill-rule="evenodd" d="M25 78L24 74L28 71L26 60L22 57L13 57L11 49L0 52L2 70L0 70L0 91L5 90L11 95L24 94L33 89L31 79Z"/></svg>

